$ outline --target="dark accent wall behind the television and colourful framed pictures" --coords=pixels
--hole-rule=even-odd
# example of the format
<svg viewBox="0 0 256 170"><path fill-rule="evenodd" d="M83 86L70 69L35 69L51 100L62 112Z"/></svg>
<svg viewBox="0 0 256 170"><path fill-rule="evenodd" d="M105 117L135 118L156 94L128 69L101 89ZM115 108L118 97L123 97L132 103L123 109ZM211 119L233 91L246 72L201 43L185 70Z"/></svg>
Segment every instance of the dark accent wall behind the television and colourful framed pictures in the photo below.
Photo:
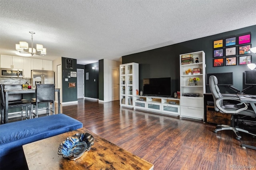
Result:
<svg viewBox="0 0 256 170"><path fill-rule="evenodd" d="M247 87L244 85L244 71L249 70L247 65L239 65L239 56L237 55L237 65L213 67L213 41L251 34L252 47L256 46L256 26L250 26L224 32L213 36L190 40L187 42L168 45L165 47L152 49L140 53L126 55L122 57L122 63L139 63L139 88L143 90L144 78L171 77L172 94L180 90L180 60L179 55L196 51L204 51L206 55L206 73L225 73L233 72L234 87L240 91ZM238 49L238 47L237 47ZM238 53L238 51L237 51ZM252 63L256 62L256 54L252 55ZM224 57L225 59L225 57ZM225 60L224 60L225 61ZM221 93L236 93L235 91L220 87ZM206 86L206 92L210 93L209 86ZM256 94L256 87L247 91L248 94Z"/></svg>

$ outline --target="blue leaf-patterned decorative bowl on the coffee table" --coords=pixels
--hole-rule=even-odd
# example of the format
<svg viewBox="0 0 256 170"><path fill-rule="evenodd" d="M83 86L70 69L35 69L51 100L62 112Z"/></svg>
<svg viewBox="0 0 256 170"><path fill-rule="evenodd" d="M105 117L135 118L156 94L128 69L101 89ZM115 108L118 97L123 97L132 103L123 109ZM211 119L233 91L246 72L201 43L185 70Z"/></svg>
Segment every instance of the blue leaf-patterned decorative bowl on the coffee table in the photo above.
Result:
<svg viewBox="0 0 256 170"><path fill-rule="evenodd" d="M68 136L60 146L58 154L63 155L63 158L75 160L82 156L85 151L89 151L94 144L94 137L89 133L77 133L73 136Z"/></svg>

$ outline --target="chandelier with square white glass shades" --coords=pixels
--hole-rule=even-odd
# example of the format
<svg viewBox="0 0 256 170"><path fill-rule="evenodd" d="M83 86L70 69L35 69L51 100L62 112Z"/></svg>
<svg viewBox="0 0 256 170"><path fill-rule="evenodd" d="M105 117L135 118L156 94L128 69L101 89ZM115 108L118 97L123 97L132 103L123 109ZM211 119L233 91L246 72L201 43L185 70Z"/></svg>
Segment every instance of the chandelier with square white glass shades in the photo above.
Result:
<svg viewBox="0 0 256 170"><path fill-rule="evenodd" d="M46 54L46 48L43 48L42 44L36 44L36 49L33 48L33 34L34 32L30 31L31 34L31 48L28 47L27 42L20 42L20 44L16 44L16 52L17 55L21 56L33 56L34 54L37 55L45 55Z"/></svg>

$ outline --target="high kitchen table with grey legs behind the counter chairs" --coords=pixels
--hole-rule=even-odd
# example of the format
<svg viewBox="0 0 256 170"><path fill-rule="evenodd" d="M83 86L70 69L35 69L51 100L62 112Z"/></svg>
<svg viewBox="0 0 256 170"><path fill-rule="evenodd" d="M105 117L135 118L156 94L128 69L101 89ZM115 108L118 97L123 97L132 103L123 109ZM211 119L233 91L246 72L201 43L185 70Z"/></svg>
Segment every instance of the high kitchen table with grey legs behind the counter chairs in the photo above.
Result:
<svg viewBox="0 0 256 170"><path fill-rule="evenodd" d="M55 89L58 92L58 113L60 113L60 89ZM36 93L36 89L8 89L4 90L5 93L5 112L4 115L1 115L2 121L1 124L8 123L8 99L9 94L26 94L26 93Z"/></svg>

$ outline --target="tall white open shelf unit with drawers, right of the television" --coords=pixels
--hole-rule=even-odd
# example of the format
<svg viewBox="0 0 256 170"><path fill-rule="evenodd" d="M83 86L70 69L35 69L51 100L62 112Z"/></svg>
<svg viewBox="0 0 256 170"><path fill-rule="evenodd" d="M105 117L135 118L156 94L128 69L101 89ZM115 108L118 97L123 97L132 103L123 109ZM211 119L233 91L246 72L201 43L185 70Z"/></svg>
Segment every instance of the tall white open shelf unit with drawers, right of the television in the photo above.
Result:
<svg viewBox="0 0 256 170"><path fill-rule="evenodd" d="M192 54L194 63L182 65L182 56ZM198 58L198 63L196 63ZM180 55L180 117L204 119L204 93L205 93L205 53L198 51ZM201 73L186 75L185 71L200 68ZM198 85L189 85L189 78L200 78ZM198 93L199 97L184 96L184 93Z"/></svg>

